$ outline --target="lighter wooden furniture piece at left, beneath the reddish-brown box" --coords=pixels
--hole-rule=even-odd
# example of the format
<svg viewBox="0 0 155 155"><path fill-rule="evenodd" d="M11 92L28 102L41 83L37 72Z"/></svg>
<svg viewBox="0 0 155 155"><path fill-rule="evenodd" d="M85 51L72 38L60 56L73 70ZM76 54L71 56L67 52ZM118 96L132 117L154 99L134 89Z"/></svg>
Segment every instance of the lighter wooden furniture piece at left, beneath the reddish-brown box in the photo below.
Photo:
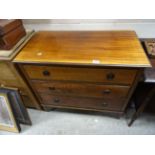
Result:
<svg viewBox="0 0 155 155"><path fill-rule="evenodd" d="M0 51L0 86L18 88L26 107L40 109L40 105L38 104L36 97L33 95L31 88L24 78L20 76L15 65L12 63L14 57L28 42L33 33L33 31L28 31L27 35L23 37L11 50Z"/></svg>

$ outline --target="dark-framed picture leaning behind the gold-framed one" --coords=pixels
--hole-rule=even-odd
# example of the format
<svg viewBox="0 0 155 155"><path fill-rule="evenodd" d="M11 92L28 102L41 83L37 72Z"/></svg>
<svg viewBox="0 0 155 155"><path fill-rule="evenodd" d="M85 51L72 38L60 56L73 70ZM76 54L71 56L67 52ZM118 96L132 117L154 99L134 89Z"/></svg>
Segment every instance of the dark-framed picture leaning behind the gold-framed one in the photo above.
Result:
<svg viewBox="0 0 155 155"><path fill-rule="evenodd" d="M24 106L18 88L3 87L0 89L0 92L5 92L9 94L10 104L18 123L31 125L31 119L29 117L26 107Z"/></svg>

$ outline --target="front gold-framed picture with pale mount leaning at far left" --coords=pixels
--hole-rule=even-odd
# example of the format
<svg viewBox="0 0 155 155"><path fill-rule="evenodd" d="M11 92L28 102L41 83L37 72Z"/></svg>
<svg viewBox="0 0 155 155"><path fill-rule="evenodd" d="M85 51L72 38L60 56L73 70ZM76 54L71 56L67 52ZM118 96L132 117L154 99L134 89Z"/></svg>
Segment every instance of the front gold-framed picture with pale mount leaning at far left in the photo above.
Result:
<svg viewBox="0 0 155 155"><path fill-rule="evenodd" d="M21 129L14 117L9 94L0 92L0 130L16 132Z"/></svg>

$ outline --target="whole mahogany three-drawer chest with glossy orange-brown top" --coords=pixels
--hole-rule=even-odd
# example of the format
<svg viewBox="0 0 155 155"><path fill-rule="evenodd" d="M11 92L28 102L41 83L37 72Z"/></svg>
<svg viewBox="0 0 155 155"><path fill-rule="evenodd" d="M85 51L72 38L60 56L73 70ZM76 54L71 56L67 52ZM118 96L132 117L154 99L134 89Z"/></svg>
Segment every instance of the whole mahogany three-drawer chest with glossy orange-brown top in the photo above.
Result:
<svg viewBox="0 0 155 155"><path fill-rule="evenodd" d="M40 31L14 59L43 109L122 114L150 63L133 31Z"/></svg>

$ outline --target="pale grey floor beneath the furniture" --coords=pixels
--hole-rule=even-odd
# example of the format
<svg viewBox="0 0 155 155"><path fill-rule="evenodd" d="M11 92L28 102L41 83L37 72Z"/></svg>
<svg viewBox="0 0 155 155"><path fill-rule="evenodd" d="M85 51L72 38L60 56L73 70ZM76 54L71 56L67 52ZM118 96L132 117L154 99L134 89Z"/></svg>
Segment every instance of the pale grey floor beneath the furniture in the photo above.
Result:
<svg viewBox="0 0 155 155"><path fill-rule="evenodd" d="M155 134L155 115L143 113L131 126L127 126L127 117L120 119L105 116L103 113L84 111L28 110L32 126L21 125L20 135L115 135L115 134ZM14 134L0 131L0 135Z"/></svg>

